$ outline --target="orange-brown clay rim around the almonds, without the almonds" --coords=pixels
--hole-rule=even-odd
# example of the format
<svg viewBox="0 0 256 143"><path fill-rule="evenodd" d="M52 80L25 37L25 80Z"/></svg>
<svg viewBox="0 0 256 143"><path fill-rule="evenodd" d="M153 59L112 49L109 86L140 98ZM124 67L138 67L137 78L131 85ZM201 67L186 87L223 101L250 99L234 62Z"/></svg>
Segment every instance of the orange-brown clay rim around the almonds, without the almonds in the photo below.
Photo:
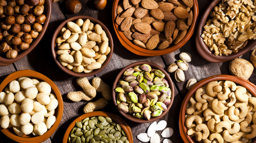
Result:
<svg viewBox="0 0 256 143"><path fill-rule="evenodd" d="M139 46L134 45L130 40L128 40L124 34L118 30L118 25L115 23L116 17L117 17L117 6L118 6L118 2L120 0L114 0L113 2L113 7L112 7L112 22L114 25L114 29L115 32L117 34L117 38L119 39L120 43L130 52L136 54L136 55L140 55L140 56L162 56L162 55L166 55L169 53L172 53L178 49L180 49L193 35L195 27L197 26L197 17L199 14L199 9L198 9L198 2L197 0L193 0L193 20L192 20L192 24L190 25L189 30L187 31L185 37L178 42L177 44L168 47L166 49L163 50L148 50L148 49L144 49L141 48Z"/></svg>

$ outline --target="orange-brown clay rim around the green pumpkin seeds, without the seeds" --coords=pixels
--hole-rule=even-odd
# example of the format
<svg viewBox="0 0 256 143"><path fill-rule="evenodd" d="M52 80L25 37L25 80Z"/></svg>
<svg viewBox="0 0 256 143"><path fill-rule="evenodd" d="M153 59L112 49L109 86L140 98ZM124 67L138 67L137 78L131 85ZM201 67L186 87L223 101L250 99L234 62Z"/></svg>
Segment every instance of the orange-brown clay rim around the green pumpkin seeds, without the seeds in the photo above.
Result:
<svg viewBox="0 0 256 143"><path fill-rule="evenodd" d="M126 137L128 139L128 141L130 143L133 142L133 135L132 135L132 130L129 127L129 125L122 119L120 118L118 115L114 114L114 113L110 113L110 112L105 112L105 111L93 111L93 112L89 112L89 113L85 113L79 117L77 117L67 128L64 137L63 137L63 143L67 143L68 141L68 137L70 134L70 131L72 130L72 128L75 127L75 122L79 122L87 117L93 117L93 116L102 116L102 117L109 117L112 120L114 120L115 122L117 122L121 128L123 129L123 131L126 134Z"/></svg>

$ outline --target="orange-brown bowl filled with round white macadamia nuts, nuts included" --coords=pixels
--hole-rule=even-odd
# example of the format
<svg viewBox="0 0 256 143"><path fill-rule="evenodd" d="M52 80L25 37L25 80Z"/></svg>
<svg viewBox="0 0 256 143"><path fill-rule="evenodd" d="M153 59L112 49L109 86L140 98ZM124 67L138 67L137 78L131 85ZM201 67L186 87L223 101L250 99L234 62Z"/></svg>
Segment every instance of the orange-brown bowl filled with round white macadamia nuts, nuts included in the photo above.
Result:
<svg viewBox="0 0 256 143"><path fill-rule="evenodd" d="M0 129L17 142L39 143L57 129L63 114L58 87L31 70L9 74L0 85Z"/></svg>

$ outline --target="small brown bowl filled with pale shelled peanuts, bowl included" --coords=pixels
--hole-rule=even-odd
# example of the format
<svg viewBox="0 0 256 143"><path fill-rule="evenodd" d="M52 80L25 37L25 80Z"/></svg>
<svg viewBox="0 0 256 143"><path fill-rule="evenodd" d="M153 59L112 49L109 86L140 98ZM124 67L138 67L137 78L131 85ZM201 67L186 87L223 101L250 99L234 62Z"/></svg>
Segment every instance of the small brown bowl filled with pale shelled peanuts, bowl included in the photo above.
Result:
<svg viewBox="0 0 256 143"><path fill-rule="evenodd" d="M108 28L89 16L75 16L61 23L51 45L59 68L77 77L102 71L113 54L113 39Z"/></svg>

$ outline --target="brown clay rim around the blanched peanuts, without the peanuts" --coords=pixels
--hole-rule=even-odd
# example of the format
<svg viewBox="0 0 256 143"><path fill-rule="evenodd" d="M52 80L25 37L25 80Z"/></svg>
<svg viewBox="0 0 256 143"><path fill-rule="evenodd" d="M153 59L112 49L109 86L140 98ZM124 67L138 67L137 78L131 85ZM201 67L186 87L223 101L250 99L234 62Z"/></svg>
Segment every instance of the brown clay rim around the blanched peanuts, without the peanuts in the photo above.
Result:
<svg viewBox="0 0 256 143"><path fill-rule="evenodd" d="M96 70L93 70L89 73L83 73L83 72L80 72L80 73L76 73L74 71L71 71L69 69L67 69L66 67L62 66L58 60L58 55L56 55L56 44L55 44L55 40L57 38L57 36L59 35L59 32L61 30L62 27L64 27L64 25L66 25L67 22L69 21L75 21L77 19L89 19L91 22L93 22L94 24L99 24L102 29L106 32L107 36L108 36L108 39L109 39L109 47L110 47L110 53L107 55L107 59L105 60L105 62L101 65L101 68L99 69L96 69ZM90 16L84 16L84 15L79 15L79 16L74 16L74 17L71 17L67 20L65 20L64 22L62 22L55 30L54 34L53 34L53 38L52 38L52 43L51 43L51 50L52 50L52 55L53 55L53 59L55 61L55 63L58 65L58 67L66 72L67 74L70 74L72 76L76 76L76 77L88 77L88 76L92 76L92 75L95 75L97 73L99 73L100 71L102 71L109 63L109 61L111 60L111 57L112 57L112 54L113 54L113 49L114 49L114 45L113 45L113 38L111 36L111 33L110 31L108 30L108 28L102 23L100 22L99 20L97 20L96 18L93 18L93 17L90 17Z"/></svg>

